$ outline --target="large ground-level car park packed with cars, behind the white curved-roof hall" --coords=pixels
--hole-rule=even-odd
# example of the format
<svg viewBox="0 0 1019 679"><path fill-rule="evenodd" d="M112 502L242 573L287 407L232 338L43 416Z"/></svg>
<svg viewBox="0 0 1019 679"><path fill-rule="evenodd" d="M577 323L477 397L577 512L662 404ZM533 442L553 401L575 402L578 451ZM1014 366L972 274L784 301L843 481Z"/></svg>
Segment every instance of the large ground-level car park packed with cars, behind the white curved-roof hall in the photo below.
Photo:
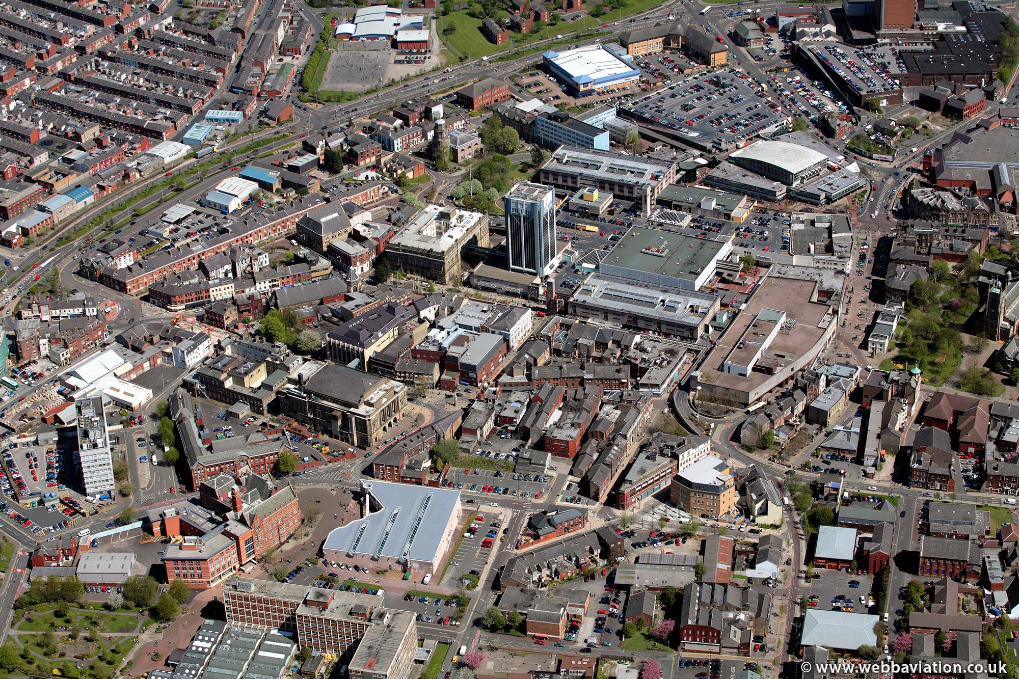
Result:
<svg viewBox="0 0 1019 679"><path fill-rule="evenodd" d="M703 151L730 151L748 139L789 124L779 106L734 69L700 73L642 95L620 113L658 134Z"/></svg>

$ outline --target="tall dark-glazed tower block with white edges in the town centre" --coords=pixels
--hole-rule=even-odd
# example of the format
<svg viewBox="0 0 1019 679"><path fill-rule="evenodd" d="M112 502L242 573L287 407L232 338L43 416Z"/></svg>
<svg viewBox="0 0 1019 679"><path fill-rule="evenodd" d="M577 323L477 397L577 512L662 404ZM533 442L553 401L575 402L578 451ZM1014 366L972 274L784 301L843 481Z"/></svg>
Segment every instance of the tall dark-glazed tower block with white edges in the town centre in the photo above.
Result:
<svg viewBox="0 0 1019 679"><path fill-rule="evenodd" d="M544 275L555 268L555 190L520 181L504 197L509 269Z"/></svg>

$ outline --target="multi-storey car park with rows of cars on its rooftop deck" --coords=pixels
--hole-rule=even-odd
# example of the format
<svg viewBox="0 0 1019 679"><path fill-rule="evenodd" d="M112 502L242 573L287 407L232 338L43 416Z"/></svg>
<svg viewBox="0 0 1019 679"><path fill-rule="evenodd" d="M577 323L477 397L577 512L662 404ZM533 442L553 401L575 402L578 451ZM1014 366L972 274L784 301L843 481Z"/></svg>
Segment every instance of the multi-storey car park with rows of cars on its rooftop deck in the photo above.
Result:
<svg viewBox="0 0 1019 679"><path fill-rule="evenodd" d="M876 101L901 104L902 87L860 49L833 44L797 46L796 54L813 65L843 99L853 106Z"/></svg>

